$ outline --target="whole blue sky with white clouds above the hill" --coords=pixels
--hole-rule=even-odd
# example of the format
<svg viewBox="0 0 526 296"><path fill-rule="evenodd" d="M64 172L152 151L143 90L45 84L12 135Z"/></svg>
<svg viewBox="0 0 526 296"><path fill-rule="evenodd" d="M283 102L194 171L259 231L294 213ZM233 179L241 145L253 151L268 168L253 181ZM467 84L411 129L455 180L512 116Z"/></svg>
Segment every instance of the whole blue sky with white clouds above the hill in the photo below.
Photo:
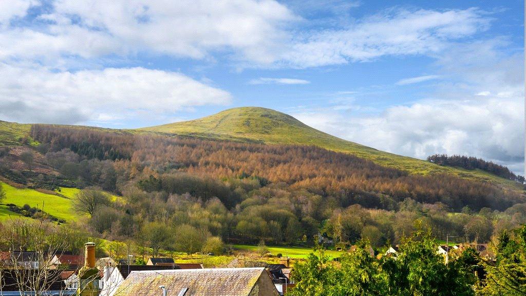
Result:
<svg viewBox="0 0 526 296"><path fill-rule="evenodd" d="M0 1L0 120L134 128L239 106L524 171L523 1Z"/></svg>

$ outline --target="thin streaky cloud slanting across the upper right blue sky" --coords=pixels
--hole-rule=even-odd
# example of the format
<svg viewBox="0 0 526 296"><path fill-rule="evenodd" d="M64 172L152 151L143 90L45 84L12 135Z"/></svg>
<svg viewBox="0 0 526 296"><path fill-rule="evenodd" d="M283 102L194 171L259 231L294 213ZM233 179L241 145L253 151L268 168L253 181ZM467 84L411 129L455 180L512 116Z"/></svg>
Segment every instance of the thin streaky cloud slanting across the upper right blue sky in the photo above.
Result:
<svg viewBox="0 0 526 296"><path fill-rule="evenodd" d="M436 55L458 38L489 28L477 9L448 11L391 9L345 29L302 34L281 63L323 66L370 61L385 55Z"/></svg>

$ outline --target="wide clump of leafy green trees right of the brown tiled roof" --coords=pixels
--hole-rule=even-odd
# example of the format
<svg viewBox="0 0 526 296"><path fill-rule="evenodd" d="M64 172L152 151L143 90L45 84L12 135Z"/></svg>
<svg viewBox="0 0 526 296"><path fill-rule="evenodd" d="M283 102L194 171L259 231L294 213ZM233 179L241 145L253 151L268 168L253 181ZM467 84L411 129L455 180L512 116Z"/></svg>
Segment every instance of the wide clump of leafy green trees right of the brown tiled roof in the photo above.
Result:
<svg viewBox="0 0 526 296"><path fill-rule="evenodd" d="M341 258L341 264L322 252L312 254L295 266L297 284L287 295L474 295L475 278L465 264L469 260L445 264L429 233L416 232L404 239L396 259L377 260L368 248L368 242L359 242L356 251Z"/></svg>

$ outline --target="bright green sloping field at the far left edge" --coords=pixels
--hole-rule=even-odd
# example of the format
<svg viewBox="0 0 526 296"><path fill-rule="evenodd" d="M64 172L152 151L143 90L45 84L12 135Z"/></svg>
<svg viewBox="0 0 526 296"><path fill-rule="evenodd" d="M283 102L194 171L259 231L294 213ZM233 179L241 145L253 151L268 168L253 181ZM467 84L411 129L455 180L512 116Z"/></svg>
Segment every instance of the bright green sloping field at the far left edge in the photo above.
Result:
<svg viewBox="0 0 526 296"><path fill-rule="evenodd" d="M28 204L31 207L42 209L44 212L66 221L72 221L77 218L77 215L71 208L70 199L62 198L58 195L38 192L33 189L17 189L5 183L0 184L6 193L6 198L2 202L4 204L12 203L17 206ZM0 216L12 213L9 211L7 211L8 213L5 213L5 211L7 211L7 209L4 208L4 212L0 212ZM12 214L16 215L16 213Z"/></svg>

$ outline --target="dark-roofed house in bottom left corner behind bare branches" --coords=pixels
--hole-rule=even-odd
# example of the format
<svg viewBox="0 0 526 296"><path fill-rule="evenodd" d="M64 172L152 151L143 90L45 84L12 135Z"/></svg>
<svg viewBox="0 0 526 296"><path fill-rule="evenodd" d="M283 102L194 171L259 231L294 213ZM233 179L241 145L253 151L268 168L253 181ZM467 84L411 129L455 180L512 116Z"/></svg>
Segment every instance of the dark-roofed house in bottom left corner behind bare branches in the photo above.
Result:
<svg viewBox="0 0 526 296"><path fill-rule="evenodd" d="M30 291L31 289L25 288L25 291L20 291L19 283L26 283L27 279L41 278L42 281L39 283L43 291L45 290L46 296L69 296L75 295L76 290L67 289L65 282L62 280L62 275L57 274L59 271L49 271L46 273L47 279L44 280L42 272L39 272L35 269L26 269L25 273L20 273L15 270L2 270L0 271L0 295L2 296L20 296L24 295L34 295L35 291ZM56 273L55 273L56 272ZM43 292L40 291L40 292Z"/></svg>

